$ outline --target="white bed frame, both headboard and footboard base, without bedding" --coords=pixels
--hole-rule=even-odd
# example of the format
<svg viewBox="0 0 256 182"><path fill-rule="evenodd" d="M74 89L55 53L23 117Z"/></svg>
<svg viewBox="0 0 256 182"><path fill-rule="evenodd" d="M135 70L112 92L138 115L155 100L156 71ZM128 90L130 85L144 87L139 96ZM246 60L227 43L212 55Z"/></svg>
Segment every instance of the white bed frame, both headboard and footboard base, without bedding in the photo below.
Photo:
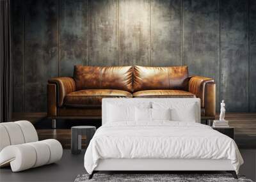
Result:
<svg viewBox="0 0 256 182"><path fill-rule="evenodd" d="M124 102L131 104L131 102L152 102L154 100L159 101L161 98L118 98L118 102ZM172 100L173 102L180 102L180 98L164 98L164 100ZM198 98L186 98L186 101L196 102L198 104L198 118L196 122L200 123L200 99ZM102 125L106 123L107 102L116 102L115 98L106 98L102 100ZM226 171L231 173L232 176L237 179L236 171L231 164L230 160L211 160L211 159L159 159L159 158L109 158L99 160L97 167L90 174L89 179L92 179L93 174L100 171L147 171L150 173L169 173L170 171Z"/></svg>

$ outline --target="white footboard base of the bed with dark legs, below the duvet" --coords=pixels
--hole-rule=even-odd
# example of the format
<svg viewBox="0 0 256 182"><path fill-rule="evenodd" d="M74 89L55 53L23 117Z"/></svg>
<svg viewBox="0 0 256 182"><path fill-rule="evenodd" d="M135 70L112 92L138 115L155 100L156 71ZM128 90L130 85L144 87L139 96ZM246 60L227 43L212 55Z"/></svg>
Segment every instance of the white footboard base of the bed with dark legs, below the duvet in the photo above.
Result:
<svg viewBox="0 0 256 182"><path fill-rule="evenodd" d="M174 171L226 171L231 173L232 176L237 179L236 171L234 171L234 167L231 165L230 160L109 158L99 160L97 167L92 174L90 174L89 179L92 179L93 174L100 171L147 171L150 173L169 173Z"/></svg>

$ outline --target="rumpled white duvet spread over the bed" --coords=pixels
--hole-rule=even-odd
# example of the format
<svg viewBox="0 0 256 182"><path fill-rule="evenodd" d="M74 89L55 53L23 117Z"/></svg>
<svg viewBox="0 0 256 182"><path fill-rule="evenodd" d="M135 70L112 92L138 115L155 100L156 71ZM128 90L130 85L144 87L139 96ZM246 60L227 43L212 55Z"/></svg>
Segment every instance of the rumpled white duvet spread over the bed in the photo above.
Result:
<svg viewBox="0 0 256 182"><path fill-rule="evenodd" d="M230 137L207 125L172 121L101 126L84 155L86 171L92 174L99 159L106 158L229 159L237 173L243 164Z"/></svg>

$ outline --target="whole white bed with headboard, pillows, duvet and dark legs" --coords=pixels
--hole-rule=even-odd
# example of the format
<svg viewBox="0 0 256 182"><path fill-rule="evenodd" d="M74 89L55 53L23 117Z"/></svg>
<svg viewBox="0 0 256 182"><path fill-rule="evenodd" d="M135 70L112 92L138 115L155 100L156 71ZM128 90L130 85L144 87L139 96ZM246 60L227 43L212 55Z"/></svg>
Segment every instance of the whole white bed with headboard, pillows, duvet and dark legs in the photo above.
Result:
<svg viewBox="0 0 256 182"><path fill-rule="evenodd" d="M124 113L118 109L125 107ZM175 121L153 121L153 110L150 121L134 120L130 107L155 109L155 118L172 109ZM84 155L90 178L96 171L230 171L236 178L241 164L234 140L200 124L197 98L103 99L102 126Z"/></svg>

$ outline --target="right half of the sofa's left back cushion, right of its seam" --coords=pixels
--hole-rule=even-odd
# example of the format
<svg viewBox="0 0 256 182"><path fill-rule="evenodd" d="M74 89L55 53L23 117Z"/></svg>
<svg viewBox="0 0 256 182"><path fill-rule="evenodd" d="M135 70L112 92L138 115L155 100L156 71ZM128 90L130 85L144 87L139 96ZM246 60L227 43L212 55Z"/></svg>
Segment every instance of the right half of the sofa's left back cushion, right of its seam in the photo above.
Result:
<svg viewBox="0 0 256 182"><path fill-rule="evenodd" d="M101 89L132 92L132 66L106 66L101 68Z"/></svg>

